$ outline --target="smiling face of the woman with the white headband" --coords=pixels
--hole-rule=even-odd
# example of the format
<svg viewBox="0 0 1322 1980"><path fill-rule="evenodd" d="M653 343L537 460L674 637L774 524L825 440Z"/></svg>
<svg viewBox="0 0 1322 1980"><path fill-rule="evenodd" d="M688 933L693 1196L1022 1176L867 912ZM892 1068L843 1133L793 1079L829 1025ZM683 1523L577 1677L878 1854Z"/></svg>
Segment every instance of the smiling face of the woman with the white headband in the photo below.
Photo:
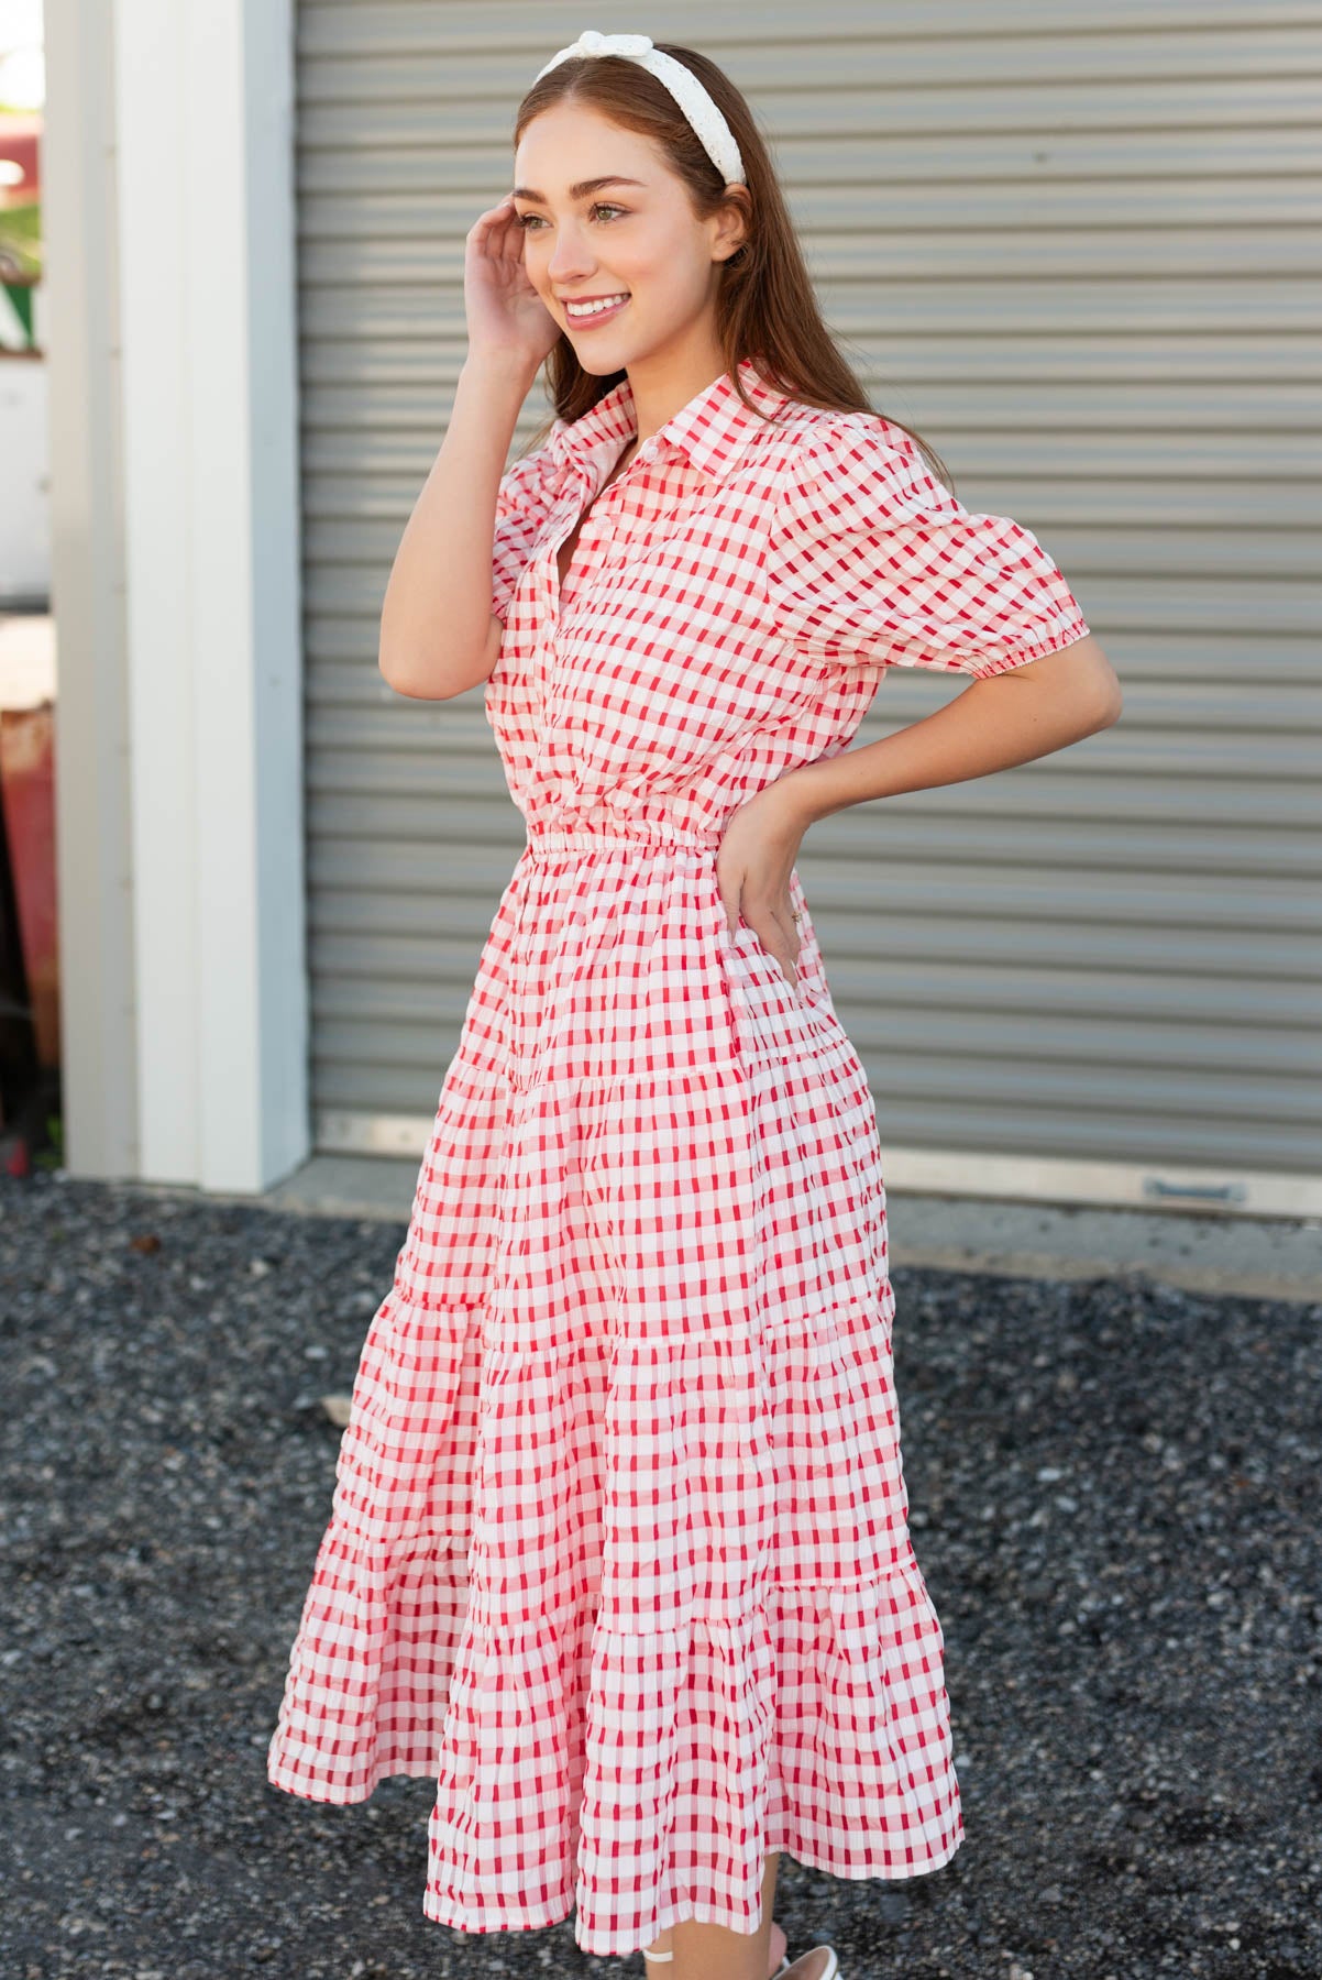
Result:
<svg viewBox="0 0 1322 1980"><path fill-rule="evenodd" d="M710 335L738 216L699 220L659 147L582 103L534 117L515 152L524 269L586 372L608 376ZM623 301L617 301L623 297ZM606 301L574 315L578 299Z"/></svg>

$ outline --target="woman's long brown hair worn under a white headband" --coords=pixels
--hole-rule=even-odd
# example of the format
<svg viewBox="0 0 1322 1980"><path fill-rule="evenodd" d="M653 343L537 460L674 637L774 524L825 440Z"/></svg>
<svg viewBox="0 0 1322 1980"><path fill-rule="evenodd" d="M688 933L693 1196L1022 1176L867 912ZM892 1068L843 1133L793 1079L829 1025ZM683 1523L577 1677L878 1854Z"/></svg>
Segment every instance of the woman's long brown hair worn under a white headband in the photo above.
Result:
<svg viewBox="0 0 1322 1980"><path fill-rule="evenodd" d="M748 103L724 69L697 50L679 48L675 42L657 42L655 48L683 61L699 77L724 115L744 160L748 182L748 204L740 202L746 216L744 246L720 263L716 291L716 339L740 400L750 412L758 412L738 374L738 364L752 358L770 384L803 406L817 406L823 412L871 412L881 418L821 319L776 166ZM708 220L722 206L734 204L675 97L641 63L623 55L570 55L560 61L532 83L519 105L515 145L532 119L552 103L584 103L621 129L653 139L671 170L689 188L699 220ZM574 345L560 333L546 356L554 412L530 446L540 446L554 418L582 418L625 376L623 370L610 376L586 372ZM889 414L887 418L918 444L932 471L950 483L940 455L922 436L902 420Z"/></svg>

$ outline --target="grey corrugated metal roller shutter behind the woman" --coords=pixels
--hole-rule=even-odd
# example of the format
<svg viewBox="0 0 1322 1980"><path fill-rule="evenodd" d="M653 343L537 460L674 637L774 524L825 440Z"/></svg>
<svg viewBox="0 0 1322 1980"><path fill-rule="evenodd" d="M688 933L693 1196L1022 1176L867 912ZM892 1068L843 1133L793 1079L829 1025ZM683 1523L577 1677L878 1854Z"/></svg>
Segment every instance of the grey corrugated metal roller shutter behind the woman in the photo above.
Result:
<svg viewBox="0 0 1322 1980"><path fill-rule="evenodd" d="M299 8L323 1148L422 1150L522 845L481 691L392 695L376 624L465 352L463 236L580 16ZM891 1178L1316 1210L1322 4L803 22L623 6L610 28L701 46L748 91L873 402L970 507L1043 537L1126 691L1071 750L803 843ZM538 388L515 451L540 414ZM962 685L895 669L859 746Z"/></svg>

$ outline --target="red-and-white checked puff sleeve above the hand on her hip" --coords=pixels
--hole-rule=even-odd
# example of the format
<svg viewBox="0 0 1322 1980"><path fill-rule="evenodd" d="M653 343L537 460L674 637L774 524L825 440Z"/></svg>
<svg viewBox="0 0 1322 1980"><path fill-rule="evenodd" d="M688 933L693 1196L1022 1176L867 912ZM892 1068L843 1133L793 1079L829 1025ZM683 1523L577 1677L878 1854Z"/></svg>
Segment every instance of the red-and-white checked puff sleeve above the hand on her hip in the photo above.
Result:
<svg viewBox="0 0 1322 1980"><path fill-rule="evenodd" d="M881 416L827 420L796 455L768 584L780 632L841 665L982 679L1088 632L1037 537L964 509Z"/></svg>

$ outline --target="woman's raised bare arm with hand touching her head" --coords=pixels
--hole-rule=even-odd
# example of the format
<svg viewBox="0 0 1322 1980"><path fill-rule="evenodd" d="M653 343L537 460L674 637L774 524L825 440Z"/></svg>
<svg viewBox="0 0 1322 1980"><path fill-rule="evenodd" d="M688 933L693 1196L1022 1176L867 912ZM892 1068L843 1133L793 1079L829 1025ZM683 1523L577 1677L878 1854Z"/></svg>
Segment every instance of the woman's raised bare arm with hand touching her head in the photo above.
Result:
<svg viewBox="0 0 1322 1980"><path fill-rule="evenodd" d="M515 422L560 327L528 281L513 194L463 249L469 352L441 451L414 503L382 602L378 665L400 695L449 701L501 651L491 610L495 505Z"/></svg>

